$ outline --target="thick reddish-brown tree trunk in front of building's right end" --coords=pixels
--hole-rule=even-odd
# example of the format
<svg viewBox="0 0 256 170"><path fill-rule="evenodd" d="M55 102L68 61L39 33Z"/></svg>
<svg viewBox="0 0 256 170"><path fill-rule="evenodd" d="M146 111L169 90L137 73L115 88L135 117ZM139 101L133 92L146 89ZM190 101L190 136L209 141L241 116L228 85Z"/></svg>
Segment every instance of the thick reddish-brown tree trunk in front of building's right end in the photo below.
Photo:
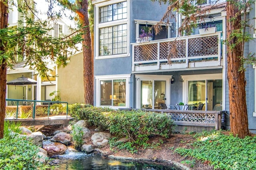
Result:
<svg viewBox="0 0 256 170"><path fill-rule="evenodd" d="M241 13L232 2L227 2L227 40L228 40L228 86L230 107L230 130L233 135L244 138L249 134L248 117L246 108L245 74L239 71L242 62L239 57L243 56L244 43L237 43L236 37L231 37L234 30L240 29ZM238 14L238 15L237 15ZM246 14L244 14L246 15ZM235 17L235 20L230 21ZM232 45L235 47L231 47Z"/></svg>

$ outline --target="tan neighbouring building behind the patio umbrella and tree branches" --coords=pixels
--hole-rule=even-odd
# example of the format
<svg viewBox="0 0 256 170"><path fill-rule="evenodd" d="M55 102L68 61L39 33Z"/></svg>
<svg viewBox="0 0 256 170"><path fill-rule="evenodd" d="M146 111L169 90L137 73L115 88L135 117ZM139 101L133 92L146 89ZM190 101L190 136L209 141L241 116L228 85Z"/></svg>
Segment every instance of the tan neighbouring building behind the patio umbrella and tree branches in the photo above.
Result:
<svg viewBox="0 0 256 170"><path fill-rule="evenodd" d="M18 12L15 6L10 7L8 26L23 27L24 25L19 23L18 20L24 20L22 14ZM25 22L23 24L25 24ZM71 33L70 23L62 19L51 22L49 27L53 29L48 34L53 37L62 37ZM36 80L36 84L24 85L25 100L52 100L54 96L50 94L56 92L55 94L60 96L61 101L68 102L69 104L84 102L82 60L82 51L80 51L71 57L70 63L65 68L57 68L55 63L51 63L53 71L49 74L57 76L51 77L50 80L48 80L40 77L37 72L31 70L29 66L25 66L26 58L21 60L17 57L17 64L14 65L14 69L8 68L7 70L7 82L21 77L22 75ZM23 99L22 86L7 85L6 89L6 98ZM7 104L11 105L11 102Z"/></svg>

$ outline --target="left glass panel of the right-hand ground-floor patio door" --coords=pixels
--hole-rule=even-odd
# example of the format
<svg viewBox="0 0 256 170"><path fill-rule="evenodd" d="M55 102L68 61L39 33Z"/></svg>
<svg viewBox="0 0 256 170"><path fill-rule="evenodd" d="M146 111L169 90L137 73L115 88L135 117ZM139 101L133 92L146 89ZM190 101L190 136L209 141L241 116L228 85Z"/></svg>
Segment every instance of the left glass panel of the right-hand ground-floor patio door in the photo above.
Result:
<svg viewBox="0 0 256 170"><path fill-rule="evenodd" d="M205 104L206 89L205 80L188 81L188 104ZM203 108L205 110L205 107Z"/></svg>

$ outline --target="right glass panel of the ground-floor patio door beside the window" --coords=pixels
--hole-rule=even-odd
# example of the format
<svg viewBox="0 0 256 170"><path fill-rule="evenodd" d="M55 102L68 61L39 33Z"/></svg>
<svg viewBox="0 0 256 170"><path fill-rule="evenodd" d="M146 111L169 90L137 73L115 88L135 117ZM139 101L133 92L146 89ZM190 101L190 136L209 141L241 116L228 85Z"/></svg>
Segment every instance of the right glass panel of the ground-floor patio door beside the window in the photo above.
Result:
<svg viewBox="0 0 256 170"><path fill-rule="evenodd" d="M160 104L166 101L166 81L154 81L154 109L161 109Z"/></svg>

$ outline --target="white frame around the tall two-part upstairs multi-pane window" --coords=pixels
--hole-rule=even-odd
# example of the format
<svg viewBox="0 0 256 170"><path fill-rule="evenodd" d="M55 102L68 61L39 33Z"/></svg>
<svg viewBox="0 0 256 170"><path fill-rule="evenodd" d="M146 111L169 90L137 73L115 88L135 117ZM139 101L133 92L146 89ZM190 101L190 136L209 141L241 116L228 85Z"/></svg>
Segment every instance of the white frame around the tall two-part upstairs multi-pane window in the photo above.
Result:
<svg viewBox="0 0 256 170"><path fill-rule="evenodd" d="M100 23L100 18L99 18L99 10L100 7L103 6L108 6L111 4L117 4L120 2L127 1L127 18L122 19L122 20L114 20L114 21L109 21L109 22L103 22ZM96 7L96 38L94 39L95 45L96 45L96 53L95 53L95 59L109 59L109 58L116 58L116 57L129 57L130 56L130 0L111 0L111 1L105 1L102 3L98 3L95 5ZM115 25L122 25L122 24L127 24L127 53L124 54L116 54L116 55L104 55L100 56L99 54L99 29L104 28L104 27L112 27Z"/></svg>

